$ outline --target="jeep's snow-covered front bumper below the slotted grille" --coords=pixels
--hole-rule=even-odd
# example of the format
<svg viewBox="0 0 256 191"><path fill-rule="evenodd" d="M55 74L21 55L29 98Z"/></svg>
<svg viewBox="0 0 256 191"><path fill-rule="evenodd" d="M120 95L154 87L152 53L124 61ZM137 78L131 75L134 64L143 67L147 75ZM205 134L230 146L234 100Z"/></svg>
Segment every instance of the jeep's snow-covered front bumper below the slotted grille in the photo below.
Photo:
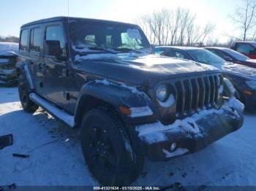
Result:
<svg viewBox="0 0 256 191"><path fill-rule="evenodd" d="M140 152L152 161L196 152L241 128L243 112L244 105L231 98L221 109L203 110L172 125L139 125Z"/></svg>

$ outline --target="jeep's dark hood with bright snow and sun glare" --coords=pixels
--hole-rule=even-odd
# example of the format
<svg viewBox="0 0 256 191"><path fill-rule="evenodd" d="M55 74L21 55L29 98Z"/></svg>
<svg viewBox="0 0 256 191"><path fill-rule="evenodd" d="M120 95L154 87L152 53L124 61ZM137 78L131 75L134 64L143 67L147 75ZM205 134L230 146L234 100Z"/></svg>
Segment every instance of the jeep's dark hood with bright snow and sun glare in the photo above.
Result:
<svg viewBox="0 0 256 191"><path fill-rule="evenodd" d="M165 79L219 72L213 66L161 55L94 54L75 56L75 61L80 63L82 71L134 85L151 86Z"/></svg>

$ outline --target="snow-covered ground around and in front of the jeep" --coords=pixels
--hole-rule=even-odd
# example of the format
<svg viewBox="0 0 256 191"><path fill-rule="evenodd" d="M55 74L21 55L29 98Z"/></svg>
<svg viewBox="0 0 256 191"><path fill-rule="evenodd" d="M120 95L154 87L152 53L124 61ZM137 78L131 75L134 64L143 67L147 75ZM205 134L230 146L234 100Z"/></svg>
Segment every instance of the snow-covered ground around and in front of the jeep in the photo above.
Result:
<svg viewBox="0 0 256 191"><path fill-rule="evenodd" d="M134 185L256 186L256 115L244 127L206 149L165 163L146 160ZM14 143L0 150L0 185L97 185L83 160L79 130L72 130L42 110L23 112L17 88L0 88L0 136ZM12 153L29 158L12 157Z"/></svg>

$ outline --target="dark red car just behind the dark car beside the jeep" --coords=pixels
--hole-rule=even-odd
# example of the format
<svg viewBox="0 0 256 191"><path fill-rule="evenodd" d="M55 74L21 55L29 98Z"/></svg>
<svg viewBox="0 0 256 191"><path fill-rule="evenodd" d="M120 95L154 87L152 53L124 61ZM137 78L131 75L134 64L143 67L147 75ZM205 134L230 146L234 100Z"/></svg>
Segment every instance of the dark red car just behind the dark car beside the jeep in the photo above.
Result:
<svg viewBox="0 0 256 191"><path fill-rule="evenodd" d="M242 55L240 52L232 50L225 47L204 47L207 50L210 50L216 55L219 55L222 59L227 62L238 63L244 66L249 66L256 69L256 60L250 59L245 55Z"/></svg>

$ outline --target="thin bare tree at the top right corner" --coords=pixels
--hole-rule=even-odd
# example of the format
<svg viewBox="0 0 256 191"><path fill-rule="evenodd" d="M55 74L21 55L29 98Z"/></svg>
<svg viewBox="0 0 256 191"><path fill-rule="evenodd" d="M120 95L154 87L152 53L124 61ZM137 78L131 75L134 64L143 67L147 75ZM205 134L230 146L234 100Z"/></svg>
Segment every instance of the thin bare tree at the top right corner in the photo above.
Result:
<svg viewBox="0 0 256 191"><path fill-rule="evenodd" d="M232 19L238 25L238 28L241 29L243 40L245 41L248 32L256 24L256 1L243 0L243 5L236 9Z"/></svg>

